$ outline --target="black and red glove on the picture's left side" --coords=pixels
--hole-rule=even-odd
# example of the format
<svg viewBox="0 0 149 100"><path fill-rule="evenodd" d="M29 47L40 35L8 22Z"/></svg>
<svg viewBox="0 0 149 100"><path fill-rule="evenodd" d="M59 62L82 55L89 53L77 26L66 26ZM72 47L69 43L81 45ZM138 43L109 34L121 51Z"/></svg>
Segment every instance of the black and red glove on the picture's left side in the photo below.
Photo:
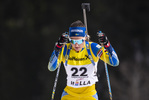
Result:
<svg viewBox="0 0 149 100"><path fill-rule="evenodd" d="M68 42L69 42L68 34L67 34L67 32L65 32L58 39L55 49L59 51L62 48L62 46Z"/></svg>

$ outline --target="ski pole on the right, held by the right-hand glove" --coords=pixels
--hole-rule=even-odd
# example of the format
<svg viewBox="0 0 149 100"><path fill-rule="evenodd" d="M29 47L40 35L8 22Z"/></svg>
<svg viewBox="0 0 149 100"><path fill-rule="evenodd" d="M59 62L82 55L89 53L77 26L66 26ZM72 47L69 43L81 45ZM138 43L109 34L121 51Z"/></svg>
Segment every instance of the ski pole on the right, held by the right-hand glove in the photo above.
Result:
<svg viewBox="0 0 149 100"><path fill-rule="evenodd" d="M103 33L99 31L98 35L102 35ZM105 72L106 72L106 77L107 77L107 83L108 83L108 88L109 88L109 97L110 100L112 100L112 91L111 91L111 85L110 85L110 78L109 78L109 73L108 73L108 67L106 63L106 54L104 52L104 45L103 43L101 44L102 46L102 52L103 52L103 58L104 58L104 65L105 65Z"/></svg>

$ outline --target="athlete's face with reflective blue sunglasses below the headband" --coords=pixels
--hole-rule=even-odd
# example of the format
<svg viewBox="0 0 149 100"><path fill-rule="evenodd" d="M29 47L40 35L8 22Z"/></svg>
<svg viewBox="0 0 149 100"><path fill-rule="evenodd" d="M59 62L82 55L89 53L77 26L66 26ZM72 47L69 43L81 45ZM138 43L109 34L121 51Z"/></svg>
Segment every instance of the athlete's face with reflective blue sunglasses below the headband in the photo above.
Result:
<svg viewBox="0 0 149 100"><path fill-rule="evenodd" d="M78 52L84 47L85 37L70 37L72 47Z"/></svg>

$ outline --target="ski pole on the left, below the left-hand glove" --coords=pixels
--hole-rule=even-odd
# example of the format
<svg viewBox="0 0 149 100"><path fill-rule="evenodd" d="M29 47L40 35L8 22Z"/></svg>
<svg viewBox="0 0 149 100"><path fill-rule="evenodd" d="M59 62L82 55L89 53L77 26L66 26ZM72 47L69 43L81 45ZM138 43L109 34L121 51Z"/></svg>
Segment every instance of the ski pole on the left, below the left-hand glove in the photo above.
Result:
<svg viewBox="0 0 149 100"><path fill-rule="evenodd" d="M61 54L60 54L60 61L62 59L62 55L63 55L63 49L62 49ZM56 85L57 85L57 82L58 82L58 76L59 76L60 67L61 67L61 62L60 62L59 67L57 68L51 100L54 100L54 95L55 95Z"/></svg>

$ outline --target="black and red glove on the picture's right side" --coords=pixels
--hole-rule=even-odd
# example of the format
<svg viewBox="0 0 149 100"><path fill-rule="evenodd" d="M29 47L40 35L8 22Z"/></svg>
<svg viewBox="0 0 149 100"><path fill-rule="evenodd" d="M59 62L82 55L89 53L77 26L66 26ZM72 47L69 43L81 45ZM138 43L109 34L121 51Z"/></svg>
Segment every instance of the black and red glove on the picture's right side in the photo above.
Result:
<svg viewBox="0 0 149 100"><path fill-rule="evenodd" d="M97 35L98 35L98 40L99 40L100 45L104 45L104 47L106 47L106 48L110 46L110 42L104 33L99 31L99 32L97 32Z"/></svg>

